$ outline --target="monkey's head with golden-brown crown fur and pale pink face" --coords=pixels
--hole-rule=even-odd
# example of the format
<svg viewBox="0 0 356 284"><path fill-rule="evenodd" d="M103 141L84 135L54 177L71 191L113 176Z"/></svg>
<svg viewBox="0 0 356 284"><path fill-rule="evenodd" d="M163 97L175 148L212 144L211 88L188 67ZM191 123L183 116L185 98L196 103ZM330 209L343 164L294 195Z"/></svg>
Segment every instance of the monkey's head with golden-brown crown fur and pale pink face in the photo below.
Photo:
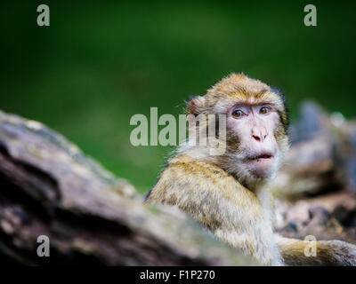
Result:
<svg viewBox="0 0 356 284"><path fill-rule="evenodd" d="M191 99L189 114L226 114L226 151L206 159L255 189L275 176L288 148L284 97L265 83L232 74L205 96Z"/></svg>

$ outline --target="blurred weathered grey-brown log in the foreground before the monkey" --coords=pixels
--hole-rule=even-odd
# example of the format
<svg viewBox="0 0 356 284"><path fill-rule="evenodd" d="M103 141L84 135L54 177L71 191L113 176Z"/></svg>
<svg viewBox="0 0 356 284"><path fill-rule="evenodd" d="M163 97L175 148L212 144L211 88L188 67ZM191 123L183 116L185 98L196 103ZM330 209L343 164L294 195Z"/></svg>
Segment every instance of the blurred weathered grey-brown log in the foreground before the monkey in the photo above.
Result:
<svg viewBox="0 0 356 284"><path fill-rule="evenodd" d="M50 256L38 256L38 237ZM252 264L182 213L142 196L40 122L0 111L0 262Z"/></svg>

